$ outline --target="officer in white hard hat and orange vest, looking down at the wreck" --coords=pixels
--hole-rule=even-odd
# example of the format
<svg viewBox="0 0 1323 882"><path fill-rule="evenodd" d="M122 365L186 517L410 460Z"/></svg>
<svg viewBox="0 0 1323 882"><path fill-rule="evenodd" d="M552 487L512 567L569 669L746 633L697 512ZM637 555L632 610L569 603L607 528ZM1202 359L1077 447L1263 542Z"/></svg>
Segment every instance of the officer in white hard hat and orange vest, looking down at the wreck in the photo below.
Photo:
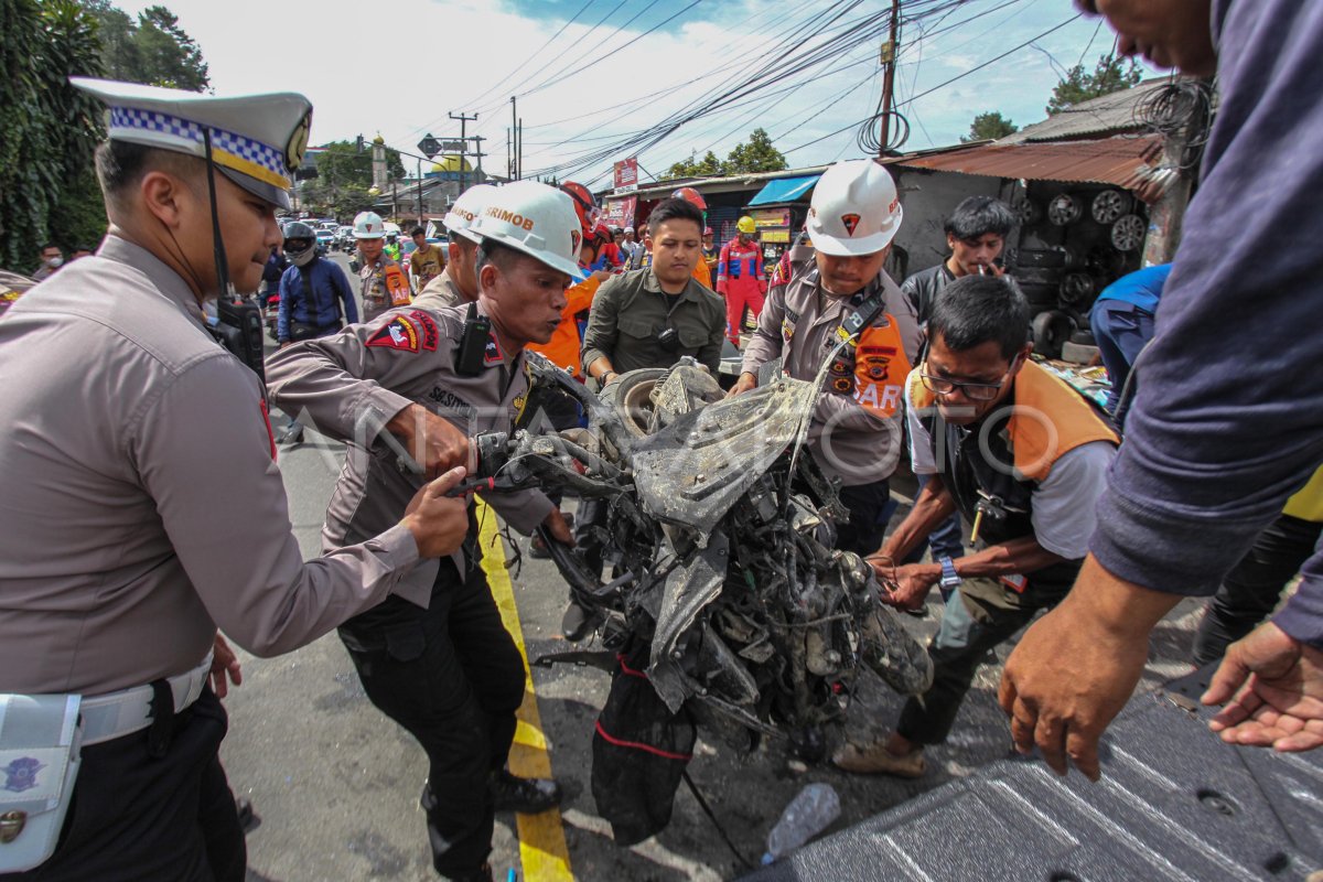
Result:
<svg viewBox="0 0 1323 882"><path fill-rule="evenodd" d="M851 160L827 169L808 212L814 257L800 249L789 262L790 279L773 286L730 391L753 389L762 365L778 356L795 380L814 381L827 368L808 446L841 481L849 522L839 525L836 547L856 554L877 550L886 529L905 377L922 345L914 308L882 270L900 226L896 184L884 167Z"/></svg>

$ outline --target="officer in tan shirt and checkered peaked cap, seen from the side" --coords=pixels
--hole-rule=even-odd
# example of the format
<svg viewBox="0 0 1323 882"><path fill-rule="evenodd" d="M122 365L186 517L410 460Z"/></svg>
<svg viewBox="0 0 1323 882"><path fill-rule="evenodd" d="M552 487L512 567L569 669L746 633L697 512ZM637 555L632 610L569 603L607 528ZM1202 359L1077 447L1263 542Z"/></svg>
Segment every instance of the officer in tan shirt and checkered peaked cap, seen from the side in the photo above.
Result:
<svg viewBox="0 0 1323 882"><path fill-rule="evenodd" d="M310 104L73 82L110 107L110 233L0 320L0 376L29 378L0 386L0 718L81 696L82 766L53 857L15 878L239 882L226 717L206 685L217 627L273 656L388 596L426 603L423 558L466 532L443 496L463 473L303 562L262 387L201 304L226 278L257 290Z"/></svg>

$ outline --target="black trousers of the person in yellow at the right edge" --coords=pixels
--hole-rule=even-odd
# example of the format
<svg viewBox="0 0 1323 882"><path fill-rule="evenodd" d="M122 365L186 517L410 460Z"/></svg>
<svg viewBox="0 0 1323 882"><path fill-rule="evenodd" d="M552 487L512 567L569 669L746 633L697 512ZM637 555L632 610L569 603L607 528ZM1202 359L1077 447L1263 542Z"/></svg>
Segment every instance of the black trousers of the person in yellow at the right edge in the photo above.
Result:
<svg viewBox="0 0 1323 882"><path fill-rule="evenodd" d="M1258 627L1282 599L1286 584L1314 555L1323 524L1282 514L1254 540L1222 579L1195 635L1195 664L1207 665Z"/></svg>

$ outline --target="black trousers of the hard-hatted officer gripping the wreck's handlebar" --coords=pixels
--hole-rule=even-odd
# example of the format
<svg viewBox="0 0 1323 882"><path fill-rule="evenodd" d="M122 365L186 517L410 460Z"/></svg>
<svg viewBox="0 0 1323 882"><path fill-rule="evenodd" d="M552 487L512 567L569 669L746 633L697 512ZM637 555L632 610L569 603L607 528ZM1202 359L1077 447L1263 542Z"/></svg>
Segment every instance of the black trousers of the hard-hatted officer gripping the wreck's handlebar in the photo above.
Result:
<svg viewBox="0 0 1323 882"><path fill-rule="evenodd" d="M463 579L441 562L426 610L389 598L340 628L368 698L427 752L421 801L442 875L472 873L491 853L487 778L505 766L524 701L524 660L476 554L466 557Z"/></svg>

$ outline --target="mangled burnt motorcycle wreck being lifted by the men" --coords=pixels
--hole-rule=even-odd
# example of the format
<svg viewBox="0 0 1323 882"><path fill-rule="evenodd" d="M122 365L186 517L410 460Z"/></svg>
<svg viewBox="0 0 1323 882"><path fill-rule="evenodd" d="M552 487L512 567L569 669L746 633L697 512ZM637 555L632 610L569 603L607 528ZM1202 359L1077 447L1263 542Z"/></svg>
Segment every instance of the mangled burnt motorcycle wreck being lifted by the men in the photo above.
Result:
<svg viewBox="0 0 1323 882"><path fill-rule="evenodd" d="M695 725L742 751L786 737L820 760L861 665L904 694L929 686L927 653L880 602L871 567L832 549L848 514L803 448L816 383L778 373L726 399L685 360L626 373L598 397L545 360L531 373L534 395L574 397L587 428L519 431L483 471L607 508L607 581L544 540L618 660L593 768L617 841L669 821Z"/></svg>

